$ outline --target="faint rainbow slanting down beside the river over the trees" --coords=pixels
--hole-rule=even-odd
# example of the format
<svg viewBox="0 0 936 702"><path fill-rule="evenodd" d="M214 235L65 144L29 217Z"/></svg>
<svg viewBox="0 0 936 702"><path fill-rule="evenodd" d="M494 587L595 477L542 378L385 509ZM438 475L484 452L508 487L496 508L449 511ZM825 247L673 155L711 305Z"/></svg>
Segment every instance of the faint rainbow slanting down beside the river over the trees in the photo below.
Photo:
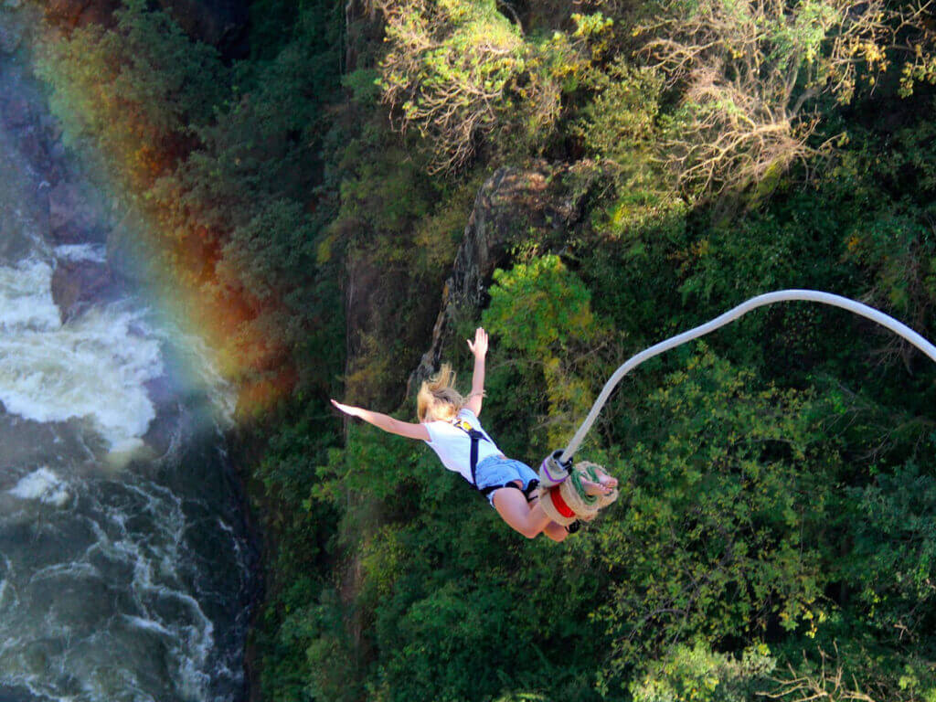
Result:
<svg viewBox="0 0 936 702"><path fill-rule="evenodd" d="M142 11L136 5L129 11ZM119 249L139 293L184 334L204 340L214 367L238 388L237 417L256 417L297 378L289 349L271 333L286 315L284 293L251 293L226 260L226 232L205 224L215 203L176 177L197 141L167 126L172 115L159 105L128 93L131 67L108 55L104 30L65 36L36 8L23 6L22 13L34 23L37 73L51 87L66 144L81 154L110 209L132 212L111 232L109 257ZM89 133L94 138L86 139Z"/></svg>

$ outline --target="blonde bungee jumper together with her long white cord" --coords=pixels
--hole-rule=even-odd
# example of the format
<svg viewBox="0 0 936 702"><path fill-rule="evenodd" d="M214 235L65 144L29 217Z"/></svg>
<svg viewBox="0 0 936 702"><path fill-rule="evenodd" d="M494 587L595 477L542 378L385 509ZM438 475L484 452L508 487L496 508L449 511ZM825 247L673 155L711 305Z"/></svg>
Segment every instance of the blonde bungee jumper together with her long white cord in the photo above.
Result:
<svg viewBox="0 0 936 702"><path fill-rule="evenodd" d="M820 290L803 289L777 290L758 295L705 324L645 348L623 363L602 388L588 417L585 417L569 445L564 450L553 452L543 461L538 480L529 466L506 458L477 421L484 396L484 359L488 353L488 334L484 329L475 330L474 343L468 341L468 347L475 357L471 394L467 398L461 397L452 387L455 378L451 368L443 365L441 372L429 382L424 382L419 389L418 424L402 422L379 412L334 400L331 402L342 412L352 417L361 417L384 431L425 441L439 455L446 468L461 473L475 488L486 494L498 514L520 534L529 538L546 534L554 541L563 541L570 531L567 527L577 519L592 519L598 510L617 498L618 481L615 478L588 461L573 467L571 457L624 375L650 358L720 329L758 307L793 300L819 302L863 316L890 329L936 361L936 345L893 317L856 300Z"/></svg>

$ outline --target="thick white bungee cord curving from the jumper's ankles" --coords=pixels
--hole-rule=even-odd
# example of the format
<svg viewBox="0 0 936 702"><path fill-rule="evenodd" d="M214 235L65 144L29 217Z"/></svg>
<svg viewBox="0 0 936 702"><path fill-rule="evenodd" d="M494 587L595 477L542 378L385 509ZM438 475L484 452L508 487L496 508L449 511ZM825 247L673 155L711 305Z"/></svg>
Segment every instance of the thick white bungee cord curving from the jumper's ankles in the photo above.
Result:
<svg viewBox="0 0 936 702"><path fill-rule="evenodd" d="M582 422L581 426L578 428L578 431L576 431L576 435L572 437L572 441L570 441L569 445L565 447L562 456L559 457L559 461L563 465L570 461L572 456L578 450L578 446L581 445L582 440L585 438L585 434L587 434L588 431L592 428L592 424L598 417L598 413L600 413L602 407L605 406L605 402L607 402L607 398L610 396L611 391L618 385L619 382L621 382L621 379L624 377L624 375L633 371L645 360L649 360L654 356L658 356L664 351L668 351L675 346L685 344L688 341L696 339L700 336L704 336L705 334L708 334L715 329L724 327L724 325L728 324L728 322L733 322L742 314L747 314L757 307L763 307L764 305L773 304L774 302L786 302L791 300L821 302L826 305L841 307L843 310L848 310L849 312L859 314L860 316L870 319L872 322L877 322L881 326L890 329L895 334L898 334L911 344L914 344L916 348L929 356L929 358L931 358L933 361L936 361L936 346L930 344L913 329L910 329L905 324L901 324L893 317L884 314L880 310L875 310L873 307L856 302L855 300L842 298L841 295L832 295L831 293L819 292L818 290L778 290L776 292L758 295L756 298L742 302L737 307L728 310L728 312L716 317L715 319L712 319L706 324L695 327L695 329L683 331L678 336L671 337L663 342L660 342L659 344L655 344L650 348L644 349L639 354L630 358L626 363L624 363L608 379L605 387L602 388L601 394L598 395L598 399L594 401L594 404L592 404L592 411L588 413L588 417L585 417L585 421ZM553 454L553 457L555 456L556 454ZM548 460L549 459L547 459L547 461Z"/></svg>

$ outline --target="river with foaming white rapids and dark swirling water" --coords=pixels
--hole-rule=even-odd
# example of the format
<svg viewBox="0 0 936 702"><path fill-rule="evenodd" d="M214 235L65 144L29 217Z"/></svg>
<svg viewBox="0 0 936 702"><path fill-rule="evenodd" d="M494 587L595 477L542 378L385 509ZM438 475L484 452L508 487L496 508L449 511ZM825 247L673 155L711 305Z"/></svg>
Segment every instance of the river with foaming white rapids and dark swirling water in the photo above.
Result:
<svg viewBox="0 0 936 702"><path fill-rule="evenodd" d="M0 107L21 92L36 105L0 54ZM51 178L21 137L0 120L0 702L240 700L231 397L133 290L63 321L56 267L106 250L51 241Z"/></svg>

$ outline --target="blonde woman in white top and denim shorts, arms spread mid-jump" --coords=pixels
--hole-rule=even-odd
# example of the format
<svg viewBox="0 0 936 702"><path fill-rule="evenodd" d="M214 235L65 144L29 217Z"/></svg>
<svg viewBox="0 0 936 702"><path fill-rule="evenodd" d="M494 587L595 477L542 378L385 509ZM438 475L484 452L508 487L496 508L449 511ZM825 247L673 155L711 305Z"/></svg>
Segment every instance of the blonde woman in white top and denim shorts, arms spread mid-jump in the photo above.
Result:
<svg viewBox="0 0 936 702"><path fill-rule="evenodd" d="M618 481L589 464L589 470L572 475L576 490L563 490L560 494L559 487L539 488L534 470L505 457L477 418L484 398L488 332L476 329L475 341L468 340L468 347L475 357L471 393L467 398L459 394L454 388L455 373L447 363L443 364L441 371L419 388L418 423L334 400L331 403L344 414L360 417L379 429L426 442L448 470L461 474L485 494L501 518L520 534L527 538L546 534L553 541L563 541L575 519L589 519L597 511L597 507L593 511L577 509L575 505L580 500L576 490L587 503L604 503L617 495ZM570 507L568 503L573 499L577 502Z"/></svg>

